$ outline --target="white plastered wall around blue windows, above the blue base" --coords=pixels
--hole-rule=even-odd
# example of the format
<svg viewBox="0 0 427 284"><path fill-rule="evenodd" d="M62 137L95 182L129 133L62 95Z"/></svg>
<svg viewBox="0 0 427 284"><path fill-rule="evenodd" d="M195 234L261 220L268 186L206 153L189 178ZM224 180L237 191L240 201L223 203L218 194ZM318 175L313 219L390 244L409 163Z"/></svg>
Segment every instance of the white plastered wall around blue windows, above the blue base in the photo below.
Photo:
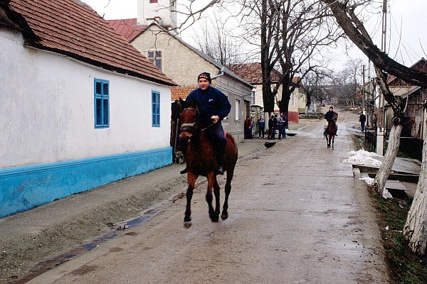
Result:
<svg viewBox="0 0 427 284"><path fill-rule="evenodd" d="M94 78L110 81L110 127L95 129ZM152 90L161 127L152 127ZM23 47L0 29L0 168L169 146L170 88Z"/></svg>

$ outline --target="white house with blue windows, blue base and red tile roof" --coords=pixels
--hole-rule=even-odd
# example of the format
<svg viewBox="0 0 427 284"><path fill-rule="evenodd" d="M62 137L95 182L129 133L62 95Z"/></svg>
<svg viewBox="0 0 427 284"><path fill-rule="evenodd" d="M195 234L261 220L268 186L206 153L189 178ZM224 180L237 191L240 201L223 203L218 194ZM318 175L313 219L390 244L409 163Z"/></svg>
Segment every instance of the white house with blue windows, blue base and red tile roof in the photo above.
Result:
<svg viewBox="0 0 427 284"><path fill-rule="evenodd" d="M0 218L172 163L174 85L80 1L0 1Z"/></svg>

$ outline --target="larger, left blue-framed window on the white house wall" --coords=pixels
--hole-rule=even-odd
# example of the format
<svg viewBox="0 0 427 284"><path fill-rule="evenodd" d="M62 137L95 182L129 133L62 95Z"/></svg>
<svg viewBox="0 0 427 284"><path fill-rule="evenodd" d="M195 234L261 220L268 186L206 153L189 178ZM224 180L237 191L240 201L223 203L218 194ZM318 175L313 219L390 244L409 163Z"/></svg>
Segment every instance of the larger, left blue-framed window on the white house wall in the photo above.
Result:
<svg viewBox="0 0 427 284"><path fill-rule="evenodd" d="M110 83L106 80L94 80L95 128L110 126Z"/></svg>

